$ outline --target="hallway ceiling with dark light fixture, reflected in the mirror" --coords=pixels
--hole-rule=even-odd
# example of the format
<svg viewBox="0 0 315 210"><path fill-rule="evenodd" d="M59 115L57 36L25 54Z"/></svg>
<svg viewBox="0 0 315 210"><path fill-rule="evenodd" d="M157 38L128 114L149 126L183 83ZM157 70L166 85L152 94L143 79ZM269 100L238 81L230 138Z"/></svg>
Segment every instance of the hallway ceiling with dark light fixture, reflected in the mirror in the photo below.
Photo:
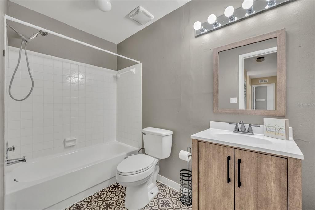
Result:
<svg viewBox="0 0 315 210"><path fill-rule="evenodd" d="M257 62L256 58L264 56L265 60ZM277 76L277 53L259 55L244 59L244 69L250 78L273 77Z"/></svg>

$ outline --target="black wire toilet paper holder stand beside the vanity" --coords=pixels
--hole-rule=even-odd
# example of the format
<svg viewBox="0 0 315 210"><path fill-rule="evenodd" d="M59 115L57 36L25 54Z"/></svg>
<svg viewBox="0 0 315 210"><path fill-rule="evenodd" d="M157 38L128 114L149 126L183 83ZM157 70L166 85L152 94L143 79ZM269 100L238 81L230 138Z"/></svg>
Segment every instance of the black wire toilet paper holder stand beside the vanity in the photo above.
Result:
<svg viewBox="0 0 315 210"><path fill-rule="evenodd" d="M192 154L192 148L187 147L187 152ZM190 157L192 155L189 155ZM190 169L189 169L190 162ZM184 205L192 205L192 162L187 161L187 169L180 170L180 202Z"/></svg>

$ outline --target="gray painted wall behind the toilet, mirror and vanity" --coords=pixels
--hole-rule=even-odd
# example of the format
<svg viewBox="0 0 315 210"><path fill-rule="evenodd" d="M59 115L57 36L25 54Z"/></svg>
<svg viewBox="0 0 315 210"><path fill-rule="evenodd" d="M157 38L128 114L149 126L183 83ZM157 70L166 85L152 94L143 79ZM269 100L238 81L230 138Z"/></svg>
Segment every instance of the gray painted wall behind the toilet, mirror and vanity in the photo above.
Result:
<svg viewBox="0 0 315 210"><path fill-rule="evenodd" d="M117 46L119 54L142 62L142 127L174 132L171 156L160 162L160 174L179 182L186 162L178 158L190 136L209 128L209 121L261 124L264 116L213 113L213 48L282 28L287 31L287 114L294 139L305 159L303 209L315 207L315 1L294 1L201 37L193 23L221 15L242 1L195 1L147 26ZM118 58L117 69L132 65Z"/></svg>

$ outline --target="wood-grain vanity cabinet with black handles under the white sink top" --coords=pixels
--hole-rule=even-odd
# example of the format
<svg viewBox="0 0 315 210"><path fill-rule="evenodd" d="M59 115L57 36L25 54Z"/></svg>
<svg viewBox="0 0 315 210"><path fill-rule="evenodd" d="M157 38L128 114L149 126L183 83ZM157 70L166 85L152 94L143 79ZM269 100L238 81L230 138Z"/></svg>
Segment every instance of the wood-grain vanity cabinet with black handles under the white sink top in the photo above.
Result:
<svg viewBox="0 0 315 210"><path fill-rule="evenodd" d="M302 209L301 160L192 140L192 209Z"/></svg>

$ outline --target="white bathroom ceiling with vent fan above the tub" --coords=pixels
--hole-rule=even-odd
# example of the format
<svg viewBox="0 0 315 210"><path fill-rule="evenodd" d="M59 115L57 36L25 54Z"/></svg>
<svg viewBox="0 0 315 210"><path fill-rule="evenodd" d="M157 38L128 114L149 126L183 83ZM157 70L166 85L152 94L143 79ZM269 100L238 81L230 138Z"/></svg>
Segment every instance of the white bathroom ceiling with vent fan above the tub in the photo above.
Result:
<svg viewBox="0 0 315 210"><path fill-rule="evenodd" d="M109 12L100 11L94 0L10 1L118 44L190 0L111 0L112 10ZM128 17L138 6L154 15L154 19L144 26Z"/></svg>

